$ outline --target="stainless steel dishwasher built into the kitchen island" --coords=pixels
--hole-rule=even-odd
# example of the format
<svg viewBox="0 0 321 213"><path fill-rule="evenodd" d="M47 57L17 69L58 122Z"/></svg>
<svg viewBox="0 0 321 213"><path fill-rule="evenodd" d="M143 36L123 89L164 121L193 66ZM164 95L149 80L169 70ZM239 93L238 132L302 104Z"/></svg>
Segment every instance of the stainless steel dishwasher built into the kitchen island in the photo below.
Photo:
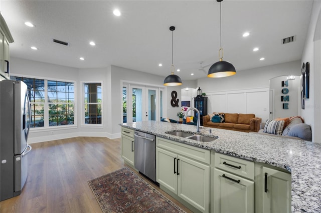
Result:
<svg viewBox="0 0 321 213"><path fill-rule="evenodd" d="M135 130L135 168L156 182L156 136Z"/></svg>

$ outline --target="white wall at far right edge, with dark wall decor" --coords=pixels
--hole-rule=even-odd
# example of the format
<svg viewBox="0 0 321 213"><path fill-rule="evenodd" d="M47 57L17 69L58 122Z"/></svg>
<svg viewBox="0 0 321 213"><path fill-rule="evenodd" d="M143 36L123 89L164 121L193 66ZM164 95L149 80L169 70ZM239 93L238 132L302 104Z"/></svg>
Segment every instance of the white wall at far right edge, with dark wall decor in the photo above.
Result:
<svg viewBox="0 0 321 213"><path fill-rule="evenodd" d="M303 62L310 63L310 92L305 100L305 109L301 109L304 121L311 125L312 141L321 143L321 1L314 0L305 45Z"/></svg>

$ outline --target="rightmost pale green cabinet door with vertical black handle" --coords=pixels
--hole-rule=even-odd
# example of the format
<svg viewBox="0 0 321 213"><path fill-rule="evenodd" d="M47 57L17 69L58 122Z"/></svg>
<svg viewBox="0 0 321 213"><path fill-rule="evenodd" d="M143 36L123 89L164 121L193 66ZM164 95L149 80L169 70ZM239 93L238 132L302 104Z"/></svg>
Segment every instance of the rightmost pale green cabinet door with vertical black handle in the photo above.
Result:
<svg viewBox="0 0 321 213"><path fill-rule="evenodd" d="M291 175L262 167L263 212L291 211Z"/></svg>

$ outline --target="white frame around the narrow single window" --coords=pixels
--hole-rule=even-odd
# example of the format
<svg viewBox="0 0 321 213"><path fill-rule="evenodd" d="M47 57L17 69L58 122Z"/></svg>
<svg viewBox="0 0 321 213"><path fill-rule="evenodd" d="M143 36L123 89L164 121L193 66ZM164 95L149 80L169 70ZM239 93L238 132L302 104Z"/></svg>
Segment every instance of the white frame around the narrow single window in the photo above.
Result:
<svg viewBox="0 0 321 213"><path fill-rule="evenodd" d="M86 83L100 83L101 84L101 123L86 123L86 118L85 118L85 84ZM104 102L104 89L103 89L103 81L102 80L86 80L86 81L81 81L81 127L103 127L104 124L104 110L103 110L103 102Z"/></svg>

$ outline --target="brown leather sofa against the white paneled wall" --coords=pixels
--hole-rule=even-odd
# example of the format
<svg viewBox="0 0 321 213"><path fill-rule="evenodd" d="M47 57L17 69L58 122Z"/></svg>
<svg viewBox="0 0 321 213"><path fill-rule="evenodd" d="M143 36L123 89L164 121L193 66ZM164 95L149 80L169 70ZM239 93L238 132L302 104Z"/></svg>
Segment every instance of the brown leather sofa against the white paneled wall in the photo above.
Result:
<svg viewBox="0 0 321 213"><path fill-rule="evenodd" d="M236 131L258 131L262 119L255 117L255 114L238 114L238 113L224 113L213 112L215 114L224 114L224 122L212 122L209 115L203 116L203 126L224 128Z"/></svg>

